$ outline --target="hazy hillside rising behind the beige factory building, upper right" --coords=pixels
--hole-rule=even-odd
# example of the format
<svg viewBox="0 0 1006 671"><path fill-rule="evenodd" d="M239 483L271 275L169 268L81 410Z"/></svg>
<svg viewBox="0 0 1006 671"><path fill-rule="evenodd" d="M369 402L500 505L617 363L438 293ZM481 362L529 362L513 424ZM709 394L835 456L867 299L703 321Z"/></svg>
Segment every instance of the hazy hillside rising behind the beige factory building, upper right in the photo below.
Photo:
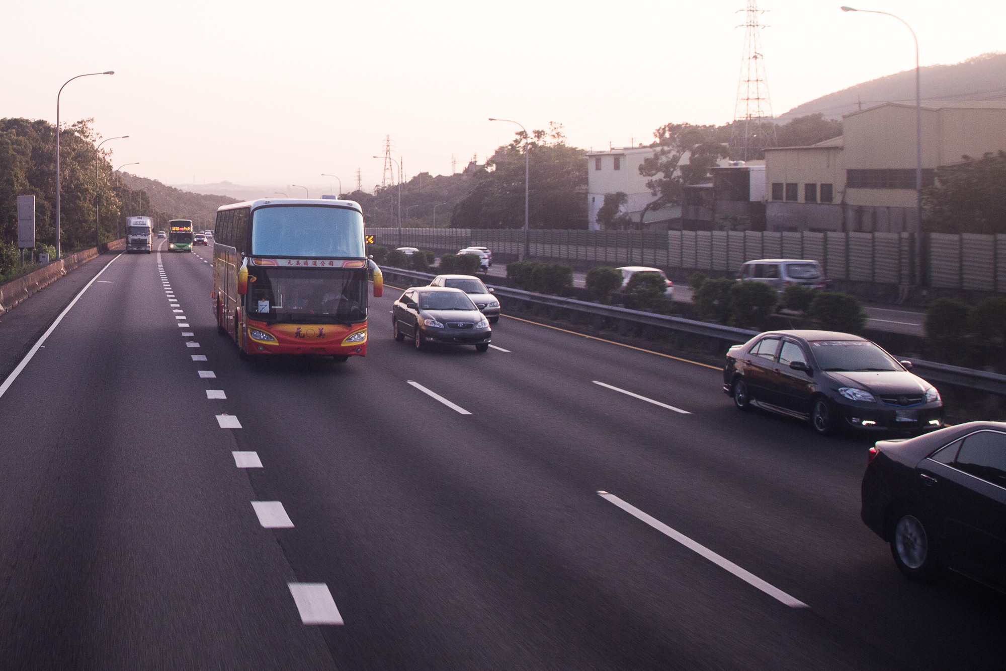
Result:
<svg viewBox="0 0 1006 671"><path fill-rule="evenodd" d="M1006 100L1006 53L986 53L953 65L928 65L921 69L919 80L923 100L931 103ZM907 70L822 96L777 119L789 121L815 113L841 119L860 106L914 100L915 71Z"/></svg>

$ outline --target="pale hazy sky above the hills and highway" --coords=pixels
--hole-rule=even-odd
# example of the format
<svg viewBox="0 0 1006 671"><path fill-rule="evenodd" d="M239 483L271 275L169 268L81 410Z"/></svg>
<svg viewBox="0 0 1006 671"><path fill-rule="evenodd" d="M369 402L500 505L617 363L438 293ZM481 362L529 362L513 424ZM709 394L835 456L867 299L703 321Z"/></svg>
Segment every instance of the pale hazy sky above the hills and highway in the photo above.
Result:
<svg viewBox="0 0 1006 671"><path fill-rule="evenodd" d="M849 0L845 0L849 1ZM841 0L765 0L776 114L914 65L894 19ZM406 178L461 170L528 129L565 125L570 143L649 141L667 122L733 116L743 0L480 3L8 2L0 117L94 117L130 135L116 165L167 183L380 181L384 136ZM855 5L855 3L854 3ZM1006 2L877 0L918 35L921 62L1003 50ZM925 81L924 81L925 97ZM327 190L327 189L326 189ZM312 193L314 195L314 193ZM293 193L291 193L293 195Z"/></svg>

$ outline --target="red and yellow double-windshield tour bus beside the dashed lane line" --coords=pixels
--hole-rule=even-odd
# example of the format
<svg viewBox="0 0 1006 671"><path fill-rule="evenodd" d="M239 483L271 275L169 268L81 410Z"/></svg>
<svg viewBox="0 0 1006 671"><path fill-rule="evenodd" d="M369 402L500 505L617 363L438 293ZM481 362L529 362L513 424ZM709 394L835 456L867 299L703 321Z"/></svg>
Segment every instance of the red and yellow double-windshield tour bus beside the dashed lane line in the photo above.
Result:
<svg viewBox="0 0 1006 671"><path fill-rule="evenodd" d="M213 236L213 311L241 359L367 354L363 213L352 200L271 198L223 206Z"/></svg>

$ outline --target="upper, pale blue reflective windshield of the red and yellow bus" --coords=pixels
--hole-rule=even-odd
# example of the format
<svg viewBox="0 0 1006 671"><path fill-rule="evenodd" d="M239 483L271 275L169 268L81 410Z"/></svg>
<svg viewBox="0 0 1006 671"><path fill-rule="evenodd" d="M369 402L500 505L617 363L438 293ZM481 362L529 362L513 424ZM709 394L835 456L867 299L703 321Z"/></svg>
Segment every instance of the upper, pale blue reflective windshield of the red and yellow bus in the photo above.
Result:
<svg viewBox="0 0 1006 671"><path fill-rule="evenodd" d="M259 208L252 219L252 254L365 258L363 216L325 206Z"/></svg>

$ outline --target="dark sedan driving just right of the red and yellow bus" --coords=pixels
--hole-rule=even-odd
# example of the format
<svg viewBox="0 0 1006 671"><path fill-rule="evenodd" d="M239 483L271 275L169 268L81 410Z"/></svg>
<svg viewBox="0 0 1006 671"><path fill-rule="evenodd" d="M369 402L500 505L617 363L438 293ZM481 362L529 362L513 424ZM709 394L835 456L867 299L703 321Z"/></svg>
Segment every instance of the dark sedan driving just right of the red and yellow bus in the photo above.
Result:
<svg viewBox="0 0 1006 671"><path fill-rule="evenodd" d="M492 341L489 320L461 289L439 286L406 289L394 301L391 315L394 340L410 338L416 350L427 343L474 345L486 352Z"/></svg>

